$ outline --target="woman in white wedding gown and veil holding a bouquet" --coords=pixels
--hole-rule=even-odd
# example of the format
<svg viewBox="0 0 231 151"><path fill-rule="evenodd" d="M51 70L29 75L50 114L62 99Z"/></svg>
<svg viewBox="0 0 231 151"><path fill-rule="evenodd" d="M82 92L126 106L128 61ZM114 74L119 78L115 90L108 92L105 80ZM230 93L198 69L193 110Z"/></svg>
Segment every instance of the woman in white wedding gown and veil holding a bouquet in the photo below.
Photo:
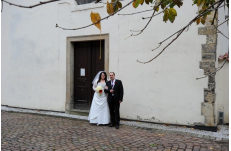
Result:
<svg viewBox="0 0 231 151"><path fill-rule="evenodd" d="M93 90L95 91L88 120L94 124L109 124L110 112L107 103L107 94L104 92L107 82L107 74L105 71L100 71L95 76Z"/></svg>

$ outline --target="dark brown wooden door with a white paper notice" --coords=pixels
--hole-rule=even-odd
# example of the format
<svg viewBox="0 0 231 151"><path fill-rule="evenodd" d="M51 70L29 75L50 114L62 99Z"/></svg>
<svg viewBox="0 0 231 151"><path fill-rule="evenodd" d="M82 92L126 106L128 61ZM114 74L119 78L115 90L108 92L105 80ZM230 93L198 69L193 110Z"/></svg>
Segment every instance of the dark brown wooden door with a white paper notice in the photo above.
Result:
<svg viewBox="0 0 231 151"><path fill-rule="evenodd" d="M89 110L94 95L92 80L104 70L104 40L74 43L74 108Z"/></svg>

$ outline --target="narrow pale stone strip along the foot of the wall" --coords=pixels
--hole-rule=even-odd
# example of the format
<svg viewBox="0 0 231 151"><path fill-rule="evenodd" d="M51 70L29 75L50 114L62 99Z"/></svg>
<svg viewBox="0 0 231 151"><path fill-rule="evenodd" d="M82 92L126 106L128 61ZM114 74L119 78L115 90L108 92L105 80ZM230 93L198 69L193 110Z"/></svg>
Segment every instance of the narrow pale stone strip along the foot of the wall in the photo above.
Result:
<svg viewBox="0 0 231 151"><path fill-rule="evenodd" d="M59 116L59 117L68 117L68 118L74 118L74 119L80 119L80 120L87 120L88 118L87 116L72 115L72 114L58 113L58 112L51 112L51 111L20 109L20 108L12 108L12 107L5 107L5 106L2 106L1 110L22 112L22 113L52 115L52 116ZM229 127L224 126L224 125L218 126L218 132L210 132L210 131L185 128L183 126L165 126L162 124L151 124L151 123L134 122L134 121L121 121L121 124L128 125L128 126L134 126L134 127L140 127L140 128L152 128L152 129L159 131L160 133L163 133L163 132L178 133L178 134L184 134L188 136L207 138L211 140L228 140L229 139Z"/></svg>

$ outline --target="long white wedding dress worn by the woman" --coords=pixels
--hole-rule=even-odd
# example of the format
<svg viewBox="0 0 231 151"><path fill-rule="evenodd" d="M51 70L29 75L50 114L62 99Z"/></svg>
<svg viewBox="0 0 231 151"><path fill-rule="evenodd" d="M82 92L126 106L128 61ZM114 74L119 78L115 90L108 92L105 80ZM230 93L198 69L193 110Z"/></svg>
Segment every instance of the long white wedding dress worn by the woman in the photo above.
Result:
<svg viewBox="0 0 231 151"><path fill-rule="evenodd" d="M106 83L98 83L95 81L93 84L93 90L95 91L97 86L101 86L104 90ZM110 123L110 112L107 103L107 94L103 91L101 94L95 92L91 109L89 112L88 120L90 123L95 124L109 124Z"/></svg>

